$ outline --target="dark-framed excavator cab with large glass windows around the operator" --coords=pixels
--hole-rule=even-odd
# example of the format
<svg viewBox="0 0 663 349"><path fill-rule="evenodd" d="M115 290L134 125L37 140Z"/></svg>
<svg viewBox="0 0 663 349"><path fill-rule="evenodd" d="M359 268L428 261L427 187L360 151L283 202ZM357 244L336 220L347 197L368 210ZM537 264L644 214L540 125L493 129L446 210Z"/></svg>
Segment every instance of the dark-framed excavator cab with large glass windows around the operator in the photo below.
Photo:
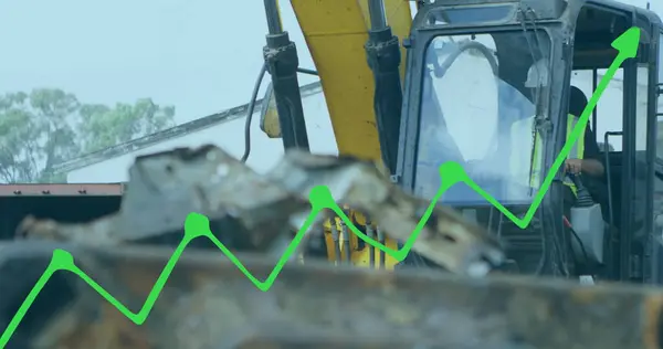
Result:
<svg viewBox="0 0 663 349"><path fill-rule="evenodd" d="M544 179L572 131L571 85L590 99L618 57L613 41L632 27L636 56L619 66L587 126L603 145L603 176L577 176L587 191L568 203L564 166L549 188ZM455 161L517 218L545 191L525 229L464 182L440 202L503 239L519 273L661 279L662 30L655 13L615 1L425 1L403 40L399 184L432 199L440 166Z"/></svg>

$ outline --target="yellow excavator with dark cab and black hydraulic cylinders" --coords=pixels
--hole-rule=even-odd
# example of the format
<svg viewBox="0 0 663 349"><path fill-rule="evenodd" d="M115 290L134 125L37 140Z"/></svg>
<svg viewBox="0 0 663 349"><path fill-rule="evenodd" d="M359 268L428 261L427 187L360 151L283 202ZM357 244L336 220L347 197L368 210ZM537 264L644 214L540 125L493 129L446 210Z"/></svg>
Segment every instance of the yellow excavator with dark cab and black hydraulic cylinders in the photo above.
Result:
<svg viewBox="0 0 663 349"><path fill-rule="evenodd" d="M560 170L525 229L463 183L442 202L505 241L511 269L518 273L660 282L661 223L655 222L663 174L655 130L663 75L655 13L600 0L431 0L418 1L411 20L409 3L399 0L291 3L316 63L340 155L381 161L394 183L427 199L440 187L438 168L456 161L520 216L547 174L540 169L552 166L570 133L558 127L567 123L570 86L585 84L589 98L618 55L613 41L631 27L640 29L638 55L621 65L610 99L599 102L588 126L602 131L596 133L597 141L619 149L601 155L604 200L592 200L588 190L566 213ZM276 66L272 53L285 46L271 45L277 36L285 43L287 32L273 7L265 2L265 62ZM280 71L270 73L275 103L261 126L281 137L286 149L307 149L302 108L283 107L297 104L294 82L285 87ZM587 78L576 83L579 74ZM540 76L533 81L532 75ZM529 126L516 130L524 119ZM545 133L540 138L546 139L536 159L533 133ZM530 172L534 161L540 161L537 173ZM582 187L581 177L573 180ZM362 218L355 223L366 225ZM343 226L336 225L343 224L330 224L328 246L337 244L335 231ZM354 264L376 264L367 257L371 246L351 243ZM399 242L386 243L396 247ZM330 260L338 254L327 253ZM403 263L387 256L385 264L427 261L412 254Z"/></svg>

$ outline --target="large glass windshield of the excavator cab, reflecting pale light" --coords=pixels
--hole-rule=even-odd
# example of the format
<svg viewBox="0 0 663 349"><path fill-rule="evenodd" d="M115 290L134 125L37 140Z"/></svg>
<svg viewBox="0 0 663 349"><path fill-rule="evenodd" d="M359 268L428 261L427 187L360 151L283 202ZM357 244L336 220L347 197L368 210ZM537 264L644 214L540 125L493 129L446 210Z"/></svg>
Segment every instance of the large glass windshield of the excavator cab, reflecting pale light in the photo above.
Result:
<svg viewBox="0 0 663 349"><path fill-rule="evenodd" d="M540 180L540 166L533 163L539 163L543 150L534 146L540 146L534 129L536 101L547 101L549 62L549 40L543 32L538 38L533 31L514 31L432 40L423 77L415 192L434 197L440 165L455 161L499 202L532 201ZM451 188L442 201L486 203L464 183Z"/></svg>

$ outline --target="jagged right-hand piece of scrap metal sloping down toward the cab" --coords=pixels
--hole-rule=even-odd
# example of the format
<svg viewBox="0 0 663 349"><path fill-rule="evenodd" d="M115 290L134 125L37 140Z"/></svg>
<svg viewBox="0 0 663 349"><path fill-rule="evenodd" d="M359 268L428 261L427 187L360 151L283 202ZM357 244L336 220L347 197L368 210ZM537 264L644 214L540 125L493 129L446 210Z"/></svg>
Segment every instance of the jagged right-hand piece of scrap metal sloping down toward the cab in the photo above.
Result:
<svg viewBox="0 0 663 349"><path fill-rule="evenodd" d="M389 237L399 241L410 237L430 204L393 186L373 165L354 159L293 150L269 176L288 191L306 195L313 188L326 186L336 202L368 214ZM413 250L456 273L484 274L488 266L481 261L503 262L496 240L452 209L440 205L435 207Z"/></svg>

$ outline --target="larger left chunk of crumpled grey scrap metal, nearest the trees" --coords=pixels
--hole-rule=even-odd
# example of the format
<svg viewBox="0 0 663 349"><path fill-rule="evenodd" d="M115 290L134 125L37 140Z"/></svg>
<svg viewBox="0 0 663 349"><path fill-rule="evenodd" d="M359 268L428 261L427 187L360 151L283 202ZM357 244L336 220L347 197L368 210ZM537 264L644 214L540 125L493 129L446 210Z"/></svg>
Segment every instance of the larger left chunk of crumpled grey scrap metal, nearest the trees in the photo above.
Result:
<svg viewBox="0 0 663 349"><path fill-rule="evenodd" d="M190 212L206 214L220 240L261 251L290 232L288 215L309 207L217 147L139 157L120 211L87 224L27 219L19 235L93 245L179 243Z"/></svg>

